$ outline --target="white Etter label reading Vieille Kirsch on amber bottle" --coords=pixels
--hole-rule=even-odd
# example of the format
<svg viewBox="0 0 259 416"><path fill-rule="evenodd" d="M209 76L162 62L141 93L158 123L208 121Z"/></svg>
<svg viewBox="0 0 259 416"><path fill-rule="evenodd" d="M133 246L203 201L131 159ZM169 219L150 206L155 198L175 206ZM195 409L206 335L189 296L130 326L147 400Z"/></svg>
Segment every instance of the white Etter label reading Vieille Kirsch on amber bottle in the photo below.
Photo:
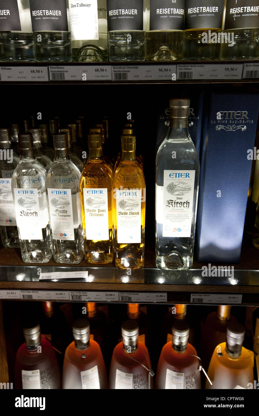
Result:
<svg viewBox="0 0 259 416"><path fill-rule="evenodd" d="M141 243L141 189L117 190L116 214L118 243Z"/></svg>

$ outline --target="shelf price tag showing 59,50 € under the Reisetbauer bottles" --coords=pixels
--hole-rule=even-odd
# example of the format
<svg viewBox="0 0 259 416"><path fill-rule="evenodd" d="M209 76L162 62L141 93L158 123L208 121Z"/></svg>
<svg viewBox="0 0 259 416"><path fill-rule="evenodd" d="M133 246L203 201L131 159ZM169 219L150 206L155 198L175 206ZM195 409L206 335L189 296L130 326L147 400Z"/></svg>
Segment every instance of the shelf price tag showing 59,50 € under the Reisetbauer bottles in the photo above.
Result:
<svg viewBox="0 0 259 416"><path fill-rule="evenodd" d="M242 79L243 64L178 64L176 78L192 79Z"/></svg>

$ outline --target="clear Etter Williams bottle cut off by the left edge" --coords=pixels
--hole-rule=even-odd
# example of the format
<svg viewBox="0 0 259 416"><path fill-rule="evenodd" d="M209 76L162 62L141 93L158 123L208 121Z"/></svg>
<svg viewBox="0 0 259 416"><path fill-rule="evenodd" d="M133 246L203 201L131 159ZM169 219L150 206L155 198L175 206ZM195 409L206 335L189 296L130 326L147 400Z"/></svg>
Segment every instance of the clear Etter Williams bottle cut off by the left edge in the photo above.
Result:
<svg viewBox="0 0 259 416"><path fill-rule="evenodd" d="M12 198L11 179L17 163L13 159L9 129L0 129L0 235L4 247L20 247Z"/></svg>

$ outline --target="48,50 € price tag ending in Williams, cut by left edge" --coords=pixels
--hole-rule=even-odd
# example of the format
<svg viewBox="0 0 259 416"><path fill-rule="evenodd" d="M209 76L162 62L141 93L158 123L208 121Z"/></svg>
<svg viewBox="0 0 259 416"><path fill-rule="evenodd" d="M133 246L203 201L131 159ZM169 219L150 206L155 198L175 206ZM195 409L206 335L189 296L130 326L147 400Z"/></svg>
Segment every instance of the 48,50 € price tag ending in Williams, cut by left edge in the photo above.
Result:
<svg viewBox="0 0 259 416"><path fill-rule="evenodd" d="M49 81L47 67L0 67L0 81Z"/></svg>

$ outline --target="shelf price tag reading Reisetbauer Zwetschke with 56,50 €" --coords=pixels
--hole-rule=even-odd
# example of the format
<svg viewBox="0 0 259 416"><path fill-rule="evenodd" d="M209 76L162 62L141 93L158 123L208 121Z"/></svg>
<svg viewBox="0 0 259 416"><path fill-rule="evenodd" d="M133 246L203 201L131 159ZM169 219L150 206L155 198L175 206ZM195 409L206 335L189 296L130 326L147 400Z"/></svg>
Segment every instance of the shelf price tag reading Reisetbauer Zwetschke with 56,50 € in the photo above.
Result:
<svg viewBox="0 0 259 416"><path fill-rule="evenodd" d="M171 81L174 78L172 77L173 75L176 75L176 65L171 64L121 65L112 67L113 81Z"/></svg>

